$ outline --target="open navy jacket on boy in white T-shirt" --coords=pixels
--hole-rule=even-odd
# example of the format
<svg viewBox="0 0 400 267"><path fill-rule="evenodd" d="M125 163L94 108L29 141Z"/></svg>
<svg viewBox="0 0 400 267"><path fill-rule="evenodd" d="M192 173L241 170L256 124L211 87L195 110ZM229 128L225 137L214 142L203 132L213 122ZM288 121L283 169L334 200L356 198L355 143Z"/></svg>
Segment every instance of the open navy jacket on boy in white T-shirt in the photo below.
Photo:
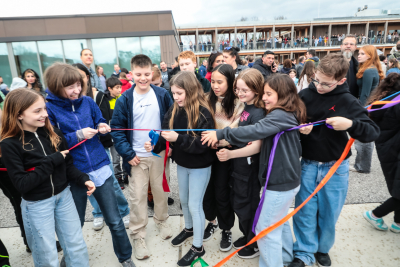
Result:
<svg viewBox="0 0 400 267"><path fill-rule="evenodd" d="M125 91L115 103L113 116L111 119L111 128L113 129L134 129L133 121L133 90L136 84L132 85L131 89ZM165 113L172 106L173 101L168 91L164 88L150 85L157 97L158 106L160 108L160 125L162 125ZM155 118L154 118L155 119ZM123 158L123 166L126 172L130 172L128 161L136 156L136 152L132 148L133 131L111 131L111 136L114 140L114 146L118 154ZM150 138L149 138L150 139Z"/></svg>

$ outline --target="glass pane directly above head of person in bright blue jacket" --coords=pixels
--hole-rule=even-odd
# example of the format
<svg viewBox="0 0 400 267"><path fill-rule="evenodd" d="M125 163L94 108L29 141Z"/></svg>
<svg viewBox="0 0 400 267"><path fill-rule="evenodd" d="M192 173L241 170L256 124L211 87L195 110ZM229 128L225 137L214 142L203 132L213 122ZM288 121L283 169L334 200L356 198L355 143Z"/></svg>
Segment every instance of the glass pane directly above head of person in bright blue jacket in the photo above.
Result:
<svg viewBox="0 0 400 267"><path fill-rule="evenodd" d="M61 41L41 41L38 47L43 73L53 63L64 62Z"/></svg>

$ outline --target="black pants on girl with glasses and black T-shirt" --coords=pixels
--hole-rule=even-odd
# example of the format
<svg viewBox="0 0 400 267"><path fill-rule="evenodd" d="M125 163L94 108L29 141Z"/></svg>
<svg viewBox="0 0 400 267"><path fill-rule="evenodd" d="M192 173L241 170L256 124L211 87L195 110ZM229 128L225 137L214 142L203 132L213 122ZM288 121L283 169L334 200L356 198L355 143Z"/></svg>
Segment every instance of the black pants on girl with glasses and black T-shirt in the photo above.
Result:
<svg viewBox="0 0 400 267"><path fill-rule="evenodd" d="M252 158L233 159L231 201L233 210L239 219L239 229L249 242L255 236L252 228L254 216L260 203L261 183L258 179L258 155ZM256 244L256 243L255 243ZM254 244L254 245L255 245Z"/></svg>

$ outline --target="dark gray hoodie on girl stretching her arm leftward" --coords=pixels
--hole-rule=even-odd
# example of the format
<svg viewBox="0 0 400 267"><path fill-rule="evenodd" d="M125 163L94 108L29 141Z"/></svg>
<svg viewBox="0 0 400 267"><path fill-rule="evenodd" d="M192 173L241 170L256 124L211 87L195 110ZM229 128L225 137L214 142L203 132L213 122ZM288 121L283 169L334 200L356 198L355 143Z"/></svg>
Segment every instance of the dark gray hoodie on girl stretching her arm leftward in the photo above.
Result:
<svg viewBox="0 0 400 267"><path fill-rule="evenodd" d="M275 109L254 125L217 130L218 140L225 139L231 145L240 145L263 139L260 152L259 179L265 184L268 160L275 134L299 125L295 115L282 109ZM300 185L301 144L299 131L289 131L281 135L276 147L268 190L288 191Z"/></svg>

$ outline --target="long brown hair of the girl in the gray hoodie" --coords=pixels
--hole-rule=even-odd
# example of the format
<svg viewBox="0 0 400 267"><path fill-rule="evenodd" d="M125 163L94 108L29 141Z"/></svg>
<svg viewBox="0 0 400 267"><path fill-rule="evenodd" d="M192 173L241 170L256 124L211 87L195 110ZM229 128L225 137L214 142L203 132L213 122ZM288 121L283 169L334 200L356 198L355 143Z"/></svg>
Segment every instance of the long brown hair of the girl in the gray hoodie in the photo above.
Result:
<svg viewBox="0 0 400 267"><path fill-rule="evenodd" d="M265 85L268 85L278 94L278 102L276 106L269 109L267 114L275 109L283 109L288 112L295 113L298 121L304 123L307 120L306 106L301 101L299 94L297 93L296 85L293 80L286 74L274 74L270 75L265 81Z"/></svg>

